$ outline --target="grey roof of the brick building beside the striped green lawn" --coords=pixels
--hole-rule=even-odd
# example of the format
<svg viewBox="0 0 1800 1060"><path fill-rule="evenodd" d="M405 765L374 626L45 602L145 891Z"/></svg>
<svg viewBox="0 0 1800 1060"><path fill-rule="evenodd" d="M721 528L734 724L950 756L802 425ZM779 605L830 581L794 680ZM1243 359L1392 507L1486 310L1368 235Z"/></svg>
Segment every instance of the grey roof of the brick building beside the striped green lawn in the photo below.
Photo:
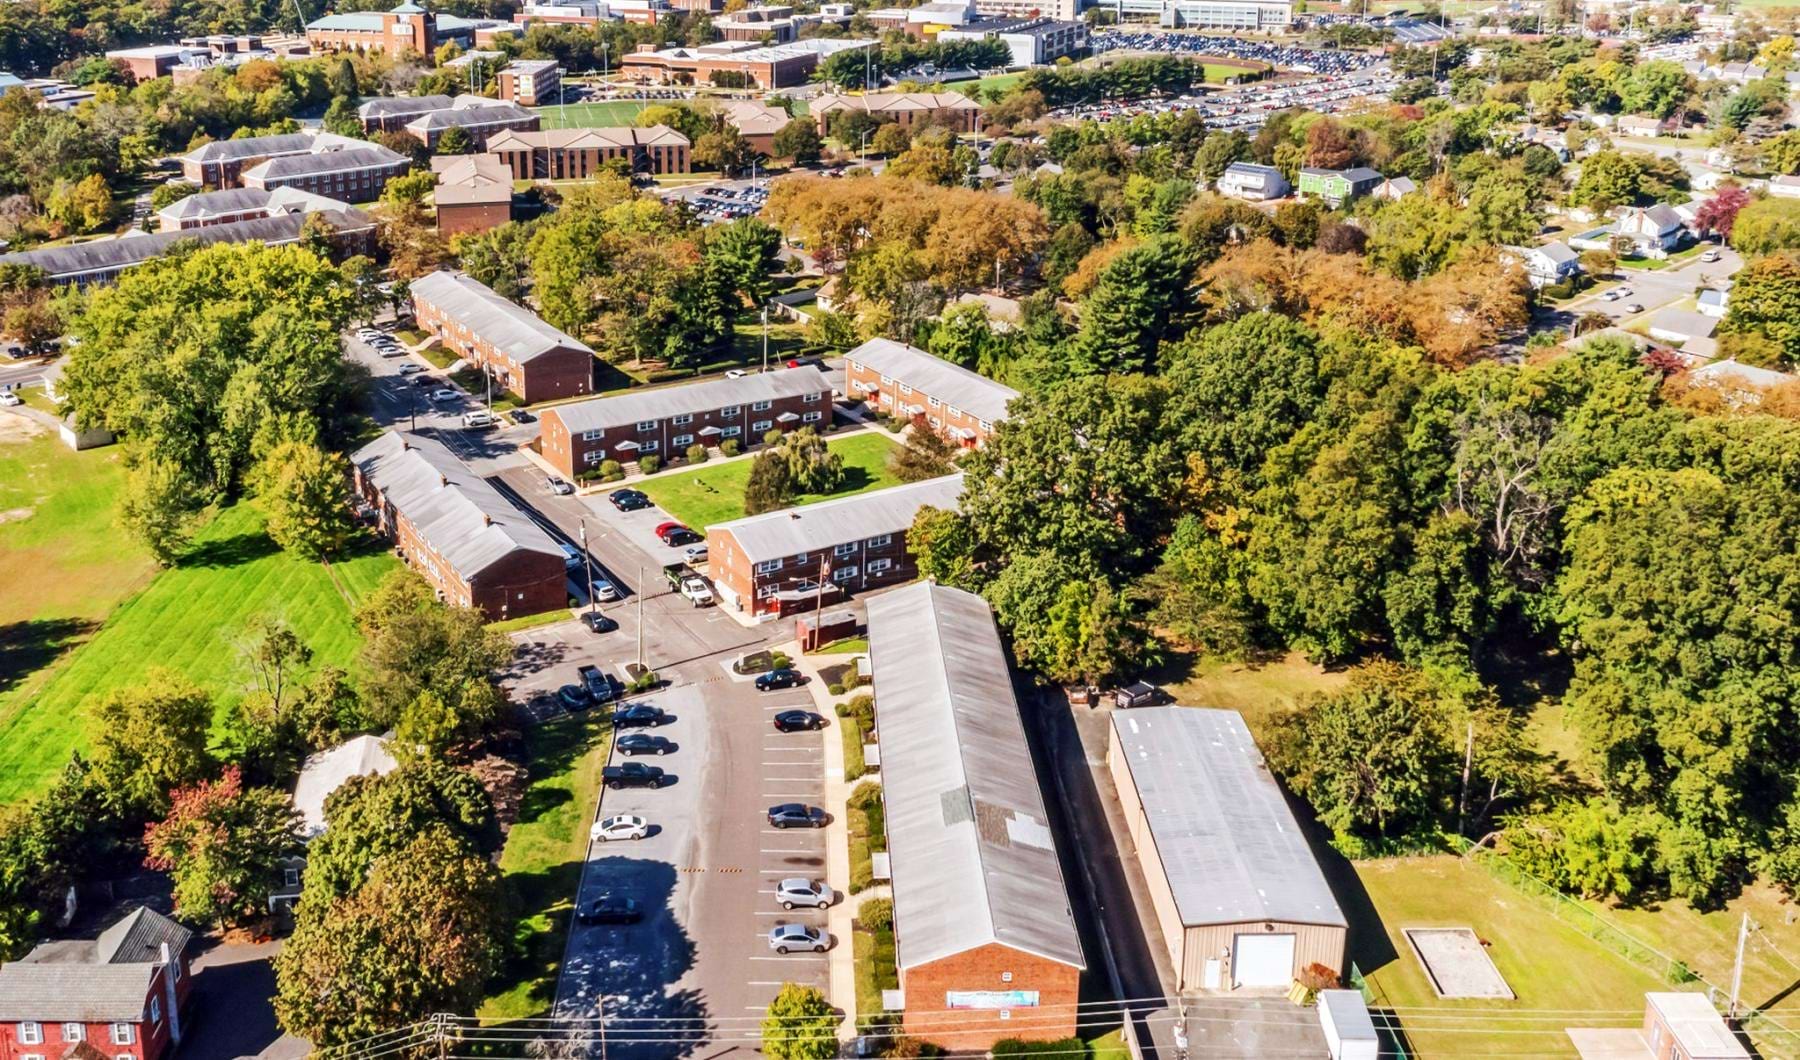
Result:
<svg viewBox="0 0 1800 1060"><path fill-rule="evenodd" d="M463 581L518 551L563 554L538 524L437 441L387 432L351 461Z"/></svg>

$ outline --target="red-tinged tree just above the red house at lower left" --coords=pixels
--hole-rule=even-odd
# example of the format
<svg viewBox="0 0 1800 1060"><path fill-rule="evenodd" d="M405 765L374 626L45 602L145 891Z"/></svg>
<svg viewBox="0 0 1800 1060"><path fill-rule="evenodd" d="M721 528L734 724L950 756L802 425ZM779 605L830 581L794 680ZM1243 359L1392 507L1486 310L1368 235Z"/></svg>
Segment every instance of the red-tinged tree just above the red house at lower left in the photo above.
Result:
<svg viewBox="0 0 1800 1060"><path fill-rule="evenodd" d="M230 927L268 914L268 893L284 858L301 853L301 817L277 788L243 786L227 768L218 781L176 790L169 813L144 830L144 864L175 880L175 911Z"/></svg>

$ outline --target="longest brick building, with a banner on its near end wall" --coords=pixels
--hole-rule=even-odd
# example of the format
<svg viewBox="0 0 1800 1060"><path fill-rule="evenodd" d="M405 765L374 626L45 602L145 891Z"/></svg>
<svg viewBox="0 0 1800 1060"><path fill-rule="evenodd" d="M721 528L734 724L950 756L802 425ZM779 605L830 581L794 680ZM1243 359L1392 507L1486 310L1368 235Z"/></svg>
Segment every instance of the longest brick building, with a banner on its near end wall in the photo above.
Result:
<svg viewBox="0 0 1800 1060"><path fill-rule="evenodd" d="M1085 963L994 612L922 581L868 614L902 1028L1067 1038Z"/></svg>

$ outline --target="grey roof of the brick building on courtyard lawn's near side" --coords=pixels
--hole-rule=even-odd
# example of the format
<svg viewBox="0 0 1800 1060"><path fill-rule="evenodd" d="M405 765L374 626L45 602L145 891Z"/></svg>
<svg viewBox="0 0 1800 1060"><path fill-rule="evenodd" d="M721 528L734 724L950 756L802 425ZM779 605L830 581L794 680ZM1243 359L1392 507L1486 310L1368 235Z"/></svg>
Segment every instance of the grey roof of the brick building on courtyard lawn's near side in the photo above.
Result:
<svg viewBox="0 0 1800 1060"><path fill-rule="evenodd" d="M769 511L749 518L734 518L706 527L729 533L752 563L781 556L799 556L844 542L860 542L877 534L896 534L913 526L920 508L954 509L963 495L963 477L945 475L889 486L855 497L839 497L817 504L803 504L783 511Z"/></svg>

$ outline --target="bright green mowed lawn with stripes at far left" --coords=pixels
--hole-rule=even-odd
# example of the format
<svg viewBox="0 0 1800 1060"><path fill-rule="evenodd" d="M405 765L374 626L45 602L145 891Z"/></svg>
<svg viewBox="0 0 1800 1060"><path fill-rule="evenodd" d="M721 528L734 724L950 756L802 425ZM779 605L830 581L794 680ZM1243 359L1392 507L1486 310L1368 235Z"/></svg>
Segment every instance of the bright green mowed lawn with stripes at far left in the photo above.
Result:
<svg viewBox="0 0 1800 1060"><path fill-rule="evenodd" d="M124 542L106 547L135 554ZM329 567L299 560L268 540L254 506L223 509L196 534L182 565L157 574L90 641L0 700L0 804L54 779L68 752L86 743L94 705L108 691L142 682L151 668L194 680L221 704L241 696L247 675L236 642L252 619L279 617L313 650L315 664L349 666L360 642L351 610L394 567L374 543Z"/></svg>

